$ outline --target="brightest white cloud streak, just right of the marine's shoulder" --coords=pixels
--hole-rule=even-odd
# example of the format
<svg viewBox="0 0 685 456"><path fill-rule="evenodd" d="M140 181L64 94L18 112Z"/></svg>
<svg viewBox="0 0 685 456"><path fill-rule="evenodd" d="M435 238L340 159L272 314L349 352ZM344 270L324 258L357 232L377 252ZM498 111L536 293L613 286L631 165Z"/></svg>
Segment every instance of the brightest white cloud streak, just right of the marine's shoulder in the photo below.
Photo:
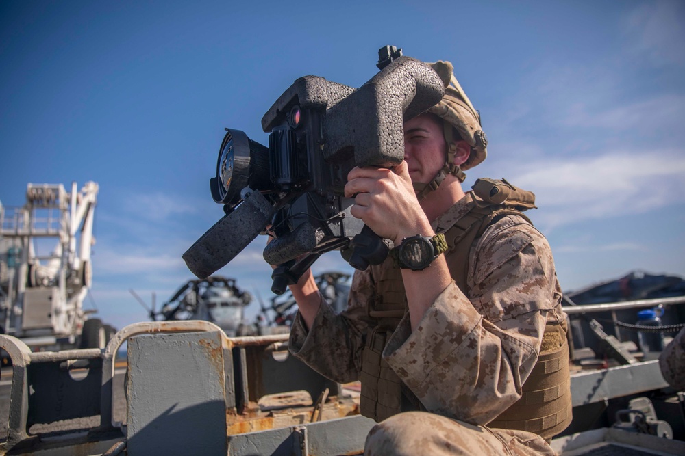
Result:
<svg viewBox="0 0 685 456"><path fill-rule="evenodd" d="M512 183L534 191L545 229L644 213L682 202L685 151L606 152L595 157L540 157L530 165L512 165ZM516 169L518 166L518 169Z"/></svg>

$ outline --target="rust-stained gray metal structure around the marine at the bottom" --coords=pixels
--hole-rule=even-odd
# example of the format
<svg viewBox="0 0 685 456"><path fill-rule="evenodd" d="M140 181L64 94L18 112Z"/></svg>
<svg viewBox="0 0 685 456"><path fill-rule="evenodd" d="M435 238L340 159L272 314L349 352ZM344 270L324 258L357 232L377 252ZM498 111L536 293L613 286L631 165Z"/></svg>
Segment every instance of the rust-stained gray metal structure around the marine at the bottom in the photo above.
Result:
<svg viewBox="0 0 685 456"><path fill-rule="evenodd" d="M621 305L633 309L664 304L668 312L683 302L685 298ZM582 314L569 310L572 318ZM373 421L358 414L351 390L288 356L287 340L286 334L229 338L207 321L136 323L119 331L103 350L32 353L21 340L0 335L0 347L14 362L8 438L0 454L362 453ZM125 341L127 405L126 422L121 423L114 419L113 379L116 351ZM635 355L640 358L640 353ZM81 378L75 380L78 372ZM603 448L603 454L616 454L607 453L614 447L618 453L642 448L685 454L685 442L677 435L672 440L649 435L649 429L667 435L661 429L671 428L675 435L679 420L683 423L684 394L667 388L656 360L584 366L573 371L571 389L575 417L571 426L577 431L571 429L553 440L562 455L590 454L597 448ZM670 402L659 405L658 394L664 392ZM597 419L616 401L625 399L627 405L630 400L630 406L636 407L635 398L654 403L642 427L634 419L613 427ZM671 408L664 409L669 404ZM627 415L631 414L643 412L630 410ZM99 425L29 433L36 423L84 416L99 416Z"/></svg>

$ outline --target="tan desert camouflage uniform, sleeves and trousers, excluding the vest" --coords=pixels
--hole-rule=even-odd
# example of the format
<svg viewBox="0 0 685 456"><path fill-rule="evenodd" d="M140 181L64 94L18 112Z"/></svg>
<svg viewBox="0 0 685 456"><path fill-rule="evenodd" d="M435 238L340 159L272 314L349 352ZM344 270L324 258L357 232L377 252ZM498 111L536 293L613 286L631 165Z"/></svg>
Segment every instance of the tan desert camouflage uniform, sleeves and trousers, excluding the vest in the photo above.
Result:
<svg viewBox="0 0 685 456"><path fill-rule="evenodd" d="M470 204L469 196L462 198L436 219L434 230L448 230ZM564 319L549 244L523 217L504 217L471 245L467 282L466 295L455 282L447 286L414 332L406 314L383 352L421 410L451 419L395 415L369 434L369 454L381 454L379 448L395 453L406 442L424 442L431 429L431 438L443 435L454 445L464 438L476 448L486 445L476 453L507 454L514 448L514 454L553 454L538 435L484 427L519 399L546 323ZM358 380L364 338L375 325L366 309L374 295L371 268L357 271L345 312L336 315L322 305L309 332L298 314L290 351L326 377L341 383ZM451 448L447 454L460 453Z"/></svg>

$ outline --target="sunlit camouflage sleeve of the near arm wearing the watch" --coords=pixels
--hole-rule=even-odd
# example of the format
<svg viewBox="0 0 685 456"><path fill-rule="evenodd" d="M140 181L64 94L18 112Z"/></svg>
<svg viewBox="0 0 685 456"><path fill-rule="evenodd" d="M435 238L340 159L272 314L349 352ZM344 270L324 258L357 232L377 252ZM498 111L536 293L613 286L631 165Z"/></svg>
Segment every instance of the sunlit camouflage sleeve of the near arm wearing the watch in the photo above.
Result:
<svg viewBox="0 0 685 456"><path fill-rule="evenodd" d="M547 313L560 303L549 245L503 221L471 250L471 293L453 282L413 333L408 318L384 357L429 412L483 425L521 397Z"/></svg>

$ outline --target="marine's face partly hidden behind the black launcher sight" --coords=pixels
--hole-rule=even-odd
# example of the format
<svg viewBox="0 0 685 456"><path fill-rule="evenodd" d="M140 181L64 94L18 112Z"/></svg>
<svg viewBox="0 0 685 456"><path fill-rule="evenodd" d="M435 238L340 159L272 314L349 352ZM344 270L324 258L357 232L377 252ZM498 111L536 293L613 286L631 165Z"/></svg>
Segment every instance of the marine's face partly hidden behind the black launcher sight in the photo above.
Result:
<svg viewBox="0 0 685 456"><path fill-rule="evenodd" d="M445 165L447 144L443 123L432 114L421 114L404 124L404 159L414 183L429 183Z"/></svg>

